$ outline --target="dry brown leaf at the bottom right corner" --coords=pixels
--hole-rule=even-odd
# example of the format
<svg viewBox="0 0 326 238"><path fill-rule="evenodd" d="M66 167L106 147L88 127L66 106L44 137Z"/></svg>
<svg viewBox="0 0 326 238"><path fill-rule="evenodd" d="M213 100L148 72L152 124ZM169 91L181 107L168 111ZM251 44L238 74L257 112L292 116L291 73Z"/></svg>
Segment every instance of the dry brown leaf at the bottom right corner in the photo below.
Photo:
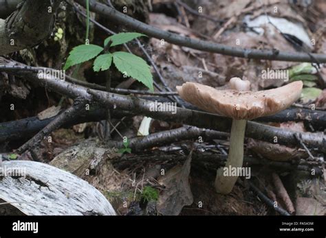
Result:
<svg viewBox="0 0 326 238"><path fill-rule="evenodd" d="M296 215L326 215L326 208L314 198L296 198Z"/></svg>

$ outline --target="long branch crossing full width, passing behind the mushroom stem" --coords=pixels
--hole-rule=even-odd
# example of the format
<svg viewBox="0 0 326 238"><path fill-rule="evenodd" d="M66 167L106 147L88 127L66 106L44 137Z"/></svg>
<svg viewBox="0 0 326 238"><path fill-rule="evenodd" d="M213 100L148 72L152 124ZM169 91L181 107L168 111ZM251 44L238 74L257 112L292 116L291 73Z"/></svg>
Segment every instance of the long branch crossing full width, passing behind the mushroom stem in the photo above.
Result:
<svg viewBox="0 0 326 238"><path fill-rule="evenodd" d="M0 61L3 61L3 58L0 58ZM6 65L1 66L1 69L6 71ZM171 112L167 111L157 111L153 110L153 106L155 104L154 102L139 99L138 97L87 89L53 77L38 78L37 75L32 72L18 70L8 71L14 75L24 75L27 80L30 80L30 82L33 82L34 84L44 86L52 91L56 91L56 93L61 93L73 99L77 97L91 98L91 96L93 96L94 100L99 102L105 108L110 108L111 110L127 110L129 112L136 113L137 115L146 115L147 117L152 117L162 121L175 121L184 123L186 125L197 126L198 128L210 128L212 130L218 130L221 132L230 131L231 121L226 117L221 117L206 112L199 112L196 110L188 110L186 108L176 108L176 114L172 114ZM298 141L294 137L294 133L296 132L292 130L266 126L253 121L248 121L246 130L246 136L252 139L272 143L276 136L279 144L289 146L298 145ZM300 134L305 145L316 147L321 152L326 151L326 136L324 134L313 134L308 132L301 132Z"/></svg>

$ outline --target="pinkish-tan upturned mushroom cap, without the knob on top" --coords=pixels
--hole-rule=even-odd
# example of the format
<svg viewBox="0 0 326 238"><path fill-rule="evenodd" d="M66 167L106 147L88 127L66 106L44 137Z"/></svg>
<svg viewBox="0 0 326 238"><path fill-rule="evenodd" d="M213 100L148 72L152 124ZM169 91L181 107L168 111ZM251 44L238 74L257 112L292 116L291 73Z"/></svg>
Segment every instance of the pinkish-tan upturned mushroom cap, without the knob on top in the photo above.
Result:
<svg viewBox="0 0 326 238"><path fill-rule="evenodd" d="M300 97L302 81L292 82L279 88L265 91L217 90L210 86L186 82L177 86L177 93L207 112L217 113L233 119L251 120L274 115L288 108Z"/></svg>

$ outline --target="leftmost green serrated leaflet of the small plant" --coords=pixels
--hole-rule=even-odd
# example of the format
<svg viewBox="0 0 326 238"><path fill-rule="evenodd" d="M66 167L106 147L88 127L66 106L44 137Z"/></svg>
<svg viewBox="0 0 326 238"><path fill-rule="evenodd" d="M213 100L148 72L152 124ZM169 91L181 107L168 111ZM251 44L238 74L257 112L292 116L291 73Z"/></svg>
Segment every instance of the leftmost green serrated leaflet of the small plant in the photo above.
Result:
<svg viewBox="0 0 326 238"><path fill-rule="evenodd" d="M65 67L63 69L69 69L75 64L83 63L87 60L91 60L98 56L98 54L103 50L102 47L98 45L78 45L74 47L69 53L67 62L65 62Z"/></svg>

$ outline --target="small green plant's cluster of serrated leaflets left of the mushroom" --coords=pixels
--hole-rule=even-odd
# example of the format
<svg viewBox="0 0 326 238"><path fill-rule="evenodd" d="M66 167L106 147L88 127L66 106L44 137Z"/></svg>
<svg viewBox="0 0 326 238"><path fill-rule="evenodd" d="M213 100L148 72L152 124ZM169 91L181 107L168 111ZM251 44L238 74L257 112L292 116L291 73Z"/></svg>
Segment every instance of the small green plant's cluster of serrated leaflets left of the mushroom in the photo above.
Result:
<svg viewBox="0 0 326 238"><path fill-rule="evenodd" d="M127 53L124 51L109 52L110 47L122 45L140 36L145 36L137 32L124 32L105 39L104 47L98 45L78 45L69 53L64 69L69 69L75 64L80 64L95 58L94 71L105 71L111 67L111 64L123 73L124 76L129 76L142 82L151 91L153 88L153 75L151 67L142 58Z"/></svg>

